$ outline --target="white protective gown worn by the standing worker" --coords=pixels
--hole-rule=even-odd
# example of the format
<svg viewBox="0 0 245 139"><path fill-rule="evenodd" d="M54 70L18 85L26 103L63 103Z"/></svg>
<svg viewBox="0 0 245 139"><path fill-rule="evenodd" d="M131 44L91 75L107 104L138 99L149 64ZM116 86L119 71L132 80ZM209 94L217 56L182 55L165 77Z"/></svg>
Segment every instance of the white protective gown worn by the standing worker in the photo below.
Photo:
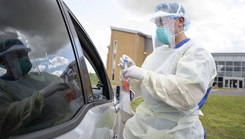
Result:
<svg viewBox="0 0 245 139"><path fill-rule="evenodd" d="M185 41L185 42L184 42ZM212 55L193 40L157 47L142 65L143 79L130 85L144 98L126 122L124 139L203 139L199 109L216 76Z"/></svg>

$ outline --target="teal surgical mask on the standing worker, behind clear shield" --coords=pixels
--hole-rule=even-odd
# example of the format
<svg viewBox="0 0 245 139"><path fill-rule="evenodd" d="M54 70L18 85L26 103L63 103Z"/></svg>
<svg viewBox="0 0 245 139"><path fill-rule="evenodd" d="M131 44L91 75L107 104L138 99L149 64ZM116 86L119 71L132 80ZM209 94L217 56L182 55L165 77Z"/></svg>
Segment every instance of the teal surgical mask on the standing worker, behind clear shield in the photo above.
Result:
<svg viewBox="0 0 245 139"><path fill-rule="evenodd" d="M156 37L158 41L160 41L161 43L169 45L170 44L169 37L171 36L172 36L172 33L170 29L164 28L164 27L157 27Z"/></svg>

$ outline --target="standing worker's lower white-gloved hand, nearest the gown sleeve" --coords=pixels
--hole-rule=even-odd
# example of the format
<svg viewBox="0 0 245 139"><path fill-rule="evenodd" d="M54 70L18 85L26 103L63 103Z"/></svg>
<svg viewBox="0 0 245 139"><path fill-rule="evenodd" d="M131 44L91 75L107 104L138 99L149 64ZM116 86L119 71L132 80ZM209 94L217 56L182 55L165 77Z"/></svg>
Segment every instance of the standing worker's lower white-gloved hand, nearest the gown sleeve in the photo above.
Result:
<svg viewBox="0 0 245 139"><path fill-rule="evenodd" d="M125 79L133 78L133 79L141 80L144 78L144 75L143 75L144 71L145 70L140 67L131 66L127 69L124 69L122 74Z"/></svg>

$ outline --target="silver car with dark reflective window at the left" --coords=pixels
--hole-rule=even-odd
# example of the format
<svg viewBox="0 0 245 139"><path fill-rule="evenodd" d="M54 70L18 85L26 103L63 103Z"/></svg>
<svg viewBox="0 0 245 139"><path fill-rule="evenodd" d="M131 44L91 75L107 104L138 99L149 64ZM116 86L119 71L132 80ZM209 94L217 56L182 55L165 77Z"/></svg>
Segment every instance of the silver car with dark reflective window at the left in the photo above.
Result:
<svg viewBox="0 0 245 139"><path fill-rule="evenodd" d="M0 79L1 138L116 137L120 118L104 65L63 1L0 0L0 6L0 47L6 40L21 41L31 50L32 63L21 80ZM6 72L0 66L0 77ZM37 97L53 81L69 88L44 100ZM33 116L35 100L43 102Z"/></svg>

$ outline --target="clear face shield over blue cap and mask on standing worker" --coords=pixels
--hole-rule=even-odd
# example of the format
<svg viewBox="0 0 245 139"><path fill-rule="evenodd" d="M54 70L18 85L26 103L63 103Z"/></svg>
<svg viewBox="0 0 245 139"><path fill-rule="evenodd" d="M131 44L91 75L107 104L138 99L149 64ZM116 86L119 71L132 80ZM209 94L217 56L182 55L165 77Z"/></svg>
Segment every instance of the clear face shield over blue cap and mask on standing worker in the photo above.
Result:
<svg viewBox="0 0 245 139"><path fill-rule="evenodd" d="M184 18L184 31L189 28L190 21L185 16L183 6L175 2L164 2L158 4L155 8L155 13L151 18L156 26L155 33L152 35L154 49L160 46L175 47L175 21L179 18Z"/></svg>

